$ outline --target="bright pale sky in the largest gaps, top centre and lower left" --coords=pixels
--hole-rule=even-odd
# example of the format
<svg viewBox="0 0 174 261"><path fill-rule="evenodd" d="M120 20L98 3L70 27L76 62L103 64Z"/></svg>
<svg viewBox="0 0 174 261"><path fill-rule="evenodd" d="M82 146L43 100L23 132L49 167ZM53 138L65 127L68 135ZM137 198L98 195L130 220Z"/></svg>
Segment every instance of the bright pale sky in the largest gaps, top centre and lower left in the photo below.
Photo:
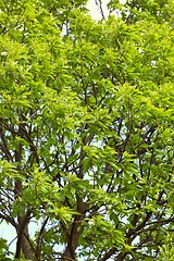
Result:
<svg viewBox="0 0 174 261"><path fill-rule="evenodd" d="M109 15L109 11L107 9L108 2L109 2L109 0L102 0L102 10L103 10L105 18ZM122 0L121 2L124 3L125 0ZM100 11L96 5L95 0L88 0L87 9L89 10L90 15L94 20L98 21L101 18ZM112 14L114 14L114 13L112 13ZM115 13L115 15L116 15L116 13ZM36 231L37 227L38 227L38 224L36 224L36 223L33 223L30 225L30 228L33 232ZM16 237L16 233L15 233L14 227L12 227L11 225L8 225L5 222L2 222L0 224L0 238L5 238L8 240L8 244L10 244L10 251L15 250L15 245L16 245L15 237Z"/></svg>

